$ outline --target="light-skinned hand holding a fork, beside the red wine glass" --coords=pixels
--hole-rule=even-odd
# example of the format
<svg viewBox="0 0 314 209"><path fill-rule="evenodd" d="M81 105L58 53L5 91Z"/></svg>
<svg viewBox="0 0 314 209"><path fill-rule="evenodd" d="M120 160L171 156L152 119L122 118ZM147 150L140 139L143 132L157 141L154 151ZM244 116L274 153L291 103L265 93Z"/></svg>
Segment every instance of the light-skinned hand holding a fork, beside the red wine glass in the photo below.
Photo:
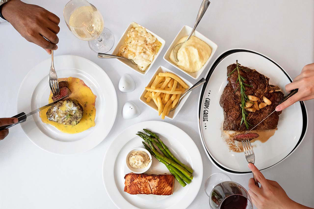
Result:
<svg viewBox="0 0 314 209"><path fill-rule="evenodd" d="M249 163L248 167L261 184L261 188L258 188L253 178L249 180L248 193L258 209L311 209L291 200L277 181L265 179L254 164Z"/></svg>

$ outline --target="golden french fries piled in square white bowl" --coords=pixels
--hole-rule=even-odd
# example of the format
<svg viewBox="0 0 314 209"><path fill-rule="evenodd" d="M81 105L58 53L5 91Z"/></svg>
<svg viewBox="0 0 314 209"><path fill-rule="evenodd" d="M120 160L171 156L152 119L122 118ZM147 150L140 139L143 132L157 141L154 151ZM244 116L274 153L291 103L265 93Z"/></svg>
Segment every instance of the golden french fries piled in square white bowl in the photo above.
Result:
<svg viewBox="0 0 314 209"><path fill-rule="evenodd" d="M150 87L145 87L147 92L144 94L144 98L147 103L154 101L158 108L158 115L165 119L170 110L176 106L186 88L188 88L187 84L177 75L160 72L155 76Z"/></svg>

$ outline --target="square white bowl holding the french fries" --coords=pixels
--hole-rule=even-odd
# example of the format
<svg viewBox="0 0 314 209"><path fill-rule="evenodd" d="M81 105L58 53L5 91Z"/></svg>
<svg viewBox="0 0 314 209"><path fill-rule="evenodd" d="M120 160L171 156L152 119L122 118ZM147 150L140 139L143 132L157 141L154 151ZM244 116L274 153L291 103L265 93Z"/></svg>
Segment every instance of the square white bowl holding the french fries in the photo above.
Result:
<svg viewBox="0 0 314 209"><path fill-rule="evenodd" d="M169 70L168 68L165 68L165 67L163 67L163 66L159 66L159 67L157 68L157 70L155 71L153 77L150 79L149 83L148 83L146 86L151 86L152 83L153 83L153 81L154 81L154 79L155 79L155 77L156 77L156 75L157 75L158 73L160 73L160 72L171 72L171 73L177 75L175 72ZM182 93L182 94L184 94L189 88L192 87L192 83L190 83L187 79L184 79L184 78L182 78L182 77L179 76L179 75L177 75L177 76L178 76L179 78L181 78L182 81L184 81L184 83L186 83L187 86L188 86L188 88L185 89L185 91ZM145 105L147 105L147 106L151 107L152 109L154 109L154 110L156 111L156 114L158 115L158 107L155 105L153 99L151 99L149 103L146 102L146 98L144 98L144 94L145 94L145 93L146 93L146 90L145 90L145 88L144 88L144 91L143 91L142 95L139 97L139 100L140 100L141 102L143 102ZM182 106L184 105L184 103L187 101L187 98L190 96L190 94L191 94L191 92L189 92L187 95L185 95L185 96L182 98L182 100L180 101L180 103L179 103L179 105L177 106L177 108L174 109L174 110L172 110L172 111L170 111L169 114L166 115L166 117L167 117L167 118L170 118L171 120L173 120L173 119L176 117L176 115L179 113L179 111L181 110L181 108L182 108Z"/></svg>

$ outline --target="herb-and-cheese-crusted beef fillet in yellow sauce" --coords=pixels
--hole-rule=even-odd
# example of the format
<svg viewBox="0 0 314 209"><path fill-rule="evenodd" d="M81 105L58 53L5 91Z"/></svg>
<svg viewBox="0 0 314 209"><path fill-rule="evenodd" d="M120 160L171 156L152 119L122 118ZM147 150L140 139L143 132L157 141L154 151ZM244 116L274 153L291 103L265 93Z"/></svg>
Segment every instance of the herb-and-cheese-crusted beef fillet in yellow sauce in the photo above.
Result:
<svg viewBox="0 0 314 209"><path fill-rule="evenodd" d="M83 107L75 99L66 99L51 105L46 115L49 121L75 126L83 117Z"/></svg>

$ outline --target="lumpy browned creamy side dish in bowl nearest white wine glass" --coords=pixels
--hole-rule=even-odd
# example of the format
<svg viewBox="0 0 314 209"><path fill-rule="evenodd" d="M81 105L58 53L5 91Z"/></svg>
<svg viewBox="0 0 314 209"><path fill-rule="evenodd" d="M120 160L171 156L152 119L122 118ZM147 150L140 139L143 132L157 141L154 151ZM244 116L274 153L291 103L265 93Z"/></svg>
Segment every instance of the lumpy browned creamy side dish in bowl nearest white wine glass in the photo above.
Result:
<svg viewBox="0 0 314 209"><path fill-rule="evenodd" d="M123 56L133 60L141 71L153 62L160 49L161 43L155 36L148 33L145 28L133 23L133 27L127 32L124 44L120 46L117 56Z"/></svg>

